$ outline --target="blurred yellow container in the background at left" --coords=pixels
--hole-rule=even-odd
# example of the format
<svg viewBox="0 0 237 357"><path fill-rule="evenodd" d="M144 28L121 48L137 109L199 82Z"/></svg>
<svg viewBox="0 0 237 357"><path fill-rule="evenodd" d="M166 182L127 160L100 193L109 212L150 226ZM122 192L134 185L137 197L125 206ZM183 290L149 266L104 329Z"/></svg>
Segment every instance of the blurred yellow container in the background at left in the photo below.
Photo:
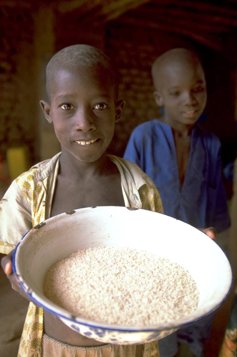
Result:
<svg viewBox="0 0 237 357"><path fill-rule="evenodd" d="M14 180L30 168L29 149L27 146L9 147L6 152L6 159L11 180Z"/></svg>

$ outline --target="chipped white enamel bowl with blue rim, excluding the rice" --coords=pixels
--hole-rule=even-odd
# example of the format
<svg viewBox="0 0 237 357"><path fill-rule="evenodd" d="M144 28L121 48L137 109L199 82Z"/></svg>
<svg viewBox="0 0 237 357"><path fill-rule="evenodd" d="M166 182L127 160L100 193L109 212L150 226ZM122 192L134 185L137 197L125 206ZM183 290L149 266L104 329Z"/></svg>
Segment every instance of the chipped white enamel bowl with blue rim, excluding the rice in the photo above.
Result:
<svg viewBox="0 0 237 357"><path fill-rule="evenodd" d="M73 316L44 296L45 274L56 261L79 249L108 245L157 253L187 269L200 293L197 310L179 320L149 327L112 326ZM13 271L31 300L74 331L121 345L159 340L198 322L221 306L232 286L226 255L204 233L160 213L113 206L81 208L35 226L15 248Z"/></svg>

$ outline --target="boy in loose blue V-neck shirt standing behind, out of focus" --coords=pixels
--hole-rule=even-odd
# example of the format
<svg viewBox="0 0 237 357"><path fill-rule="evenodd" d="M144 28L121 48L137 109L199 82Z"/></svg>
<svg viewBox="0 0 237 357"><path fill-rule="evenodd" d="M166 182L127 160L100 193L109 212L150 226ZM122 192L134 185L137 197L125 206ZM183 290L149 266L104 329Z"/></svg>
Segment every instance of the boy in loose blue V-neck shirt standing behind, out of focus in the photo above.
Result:
<svg viewBox="0 0 237 357"><path fill-rule="evenodd" d="M163 107L164 114L134 129L124 159L138 164L152 178L166 215L197 228L226 230L230 218L220 141L196 124L207 100L202 65L192 51L172 49L155 60L152 77L155 102ZM180 330L178 340L177 334L160 340L161 357L173 357L177 341L188 342L194 355L201 356L208 330L205 324L196 325Z"/></svg>

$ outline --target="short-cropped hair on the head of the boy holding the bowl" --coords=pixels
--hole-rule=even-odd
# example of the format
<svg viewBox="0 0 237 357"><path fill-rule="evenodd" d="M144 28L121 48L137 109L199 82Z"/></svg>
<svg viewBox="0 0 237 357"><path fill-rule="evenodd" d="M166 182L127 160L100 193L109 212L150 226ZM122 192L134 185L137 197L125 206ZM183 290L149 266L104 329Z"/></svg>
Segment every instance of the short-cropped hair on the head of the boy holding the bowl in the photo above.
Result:
<svg viewBox="0 0 237 357"><path fill-rule="evenodd" d="M115 89L115 99L118 95L118 82L114 68L107 55L99 49L89 45L72 45L58 51L46 67L46 91L48 99L51 97L51 88L54 76L59 70L75 71L78 69L107 72Z"/></svg>

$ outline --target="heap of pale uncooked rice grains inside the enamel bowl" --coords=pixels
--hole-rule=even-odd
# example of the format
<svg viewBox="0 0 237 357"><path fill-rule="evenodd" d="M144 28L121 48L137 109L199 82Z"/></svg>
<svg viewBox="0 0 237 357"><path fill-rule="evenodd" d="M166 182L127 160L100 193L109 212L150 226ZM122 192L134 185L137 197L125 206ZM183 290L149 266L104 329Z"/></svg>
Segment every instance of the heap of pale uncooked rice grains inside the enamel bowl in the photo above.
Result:
<svg viewBox="0 0 237 357"><path fill-rule="evenodd" d="M76 316L100 323L149 326L196 310L199 292L187 270L128 247L79 250L46 273L44 292Z"/></svg>

